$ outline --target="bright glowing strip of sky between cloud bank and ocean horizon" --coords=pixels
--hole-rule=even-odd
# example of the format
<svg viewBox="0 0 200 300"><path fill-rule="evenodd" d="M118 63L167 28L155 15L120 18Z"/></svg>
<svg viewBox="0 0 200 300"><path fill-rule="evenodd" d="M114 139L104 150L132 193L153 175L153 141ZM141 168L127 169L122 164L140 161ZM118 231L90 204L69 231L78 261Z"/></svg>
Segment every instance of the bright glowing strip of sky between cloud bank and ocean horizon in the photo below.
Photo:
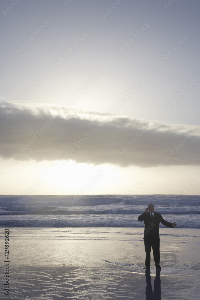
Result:
<svg viewBox="0 0 200 300"><path fill-rule="evenodd" d="M64 161L0 160L1 194L199 194L199 167L119 168L110 164L92 166ZM31 170L31 172L30 172ZM102 173L103 176L99 177ZM98 179L97 179L98 178ZM92 184L92 181L94 184ZM193 187L187 187L194 182ZM88 189L85 187L88 187Z"/></svg>

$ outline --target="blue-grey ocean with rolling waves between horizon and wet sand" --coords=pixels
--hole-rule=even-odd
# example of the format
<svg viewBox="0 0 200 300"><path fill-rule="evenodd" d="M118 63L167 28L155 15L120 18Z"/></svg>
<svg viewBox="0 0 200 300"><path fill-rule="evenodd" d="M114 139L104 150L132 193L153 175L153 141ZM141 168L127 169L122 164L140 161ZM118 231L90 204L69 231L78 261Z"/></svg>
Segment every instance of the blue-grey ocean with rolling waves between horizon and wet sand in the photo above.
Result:
<svg viewBox="0 0 200 300"><path fill-rule="evenodd" d="M0 226L144 227L148 203L176 228L200 228L200 195L0 196Z"/></svg>

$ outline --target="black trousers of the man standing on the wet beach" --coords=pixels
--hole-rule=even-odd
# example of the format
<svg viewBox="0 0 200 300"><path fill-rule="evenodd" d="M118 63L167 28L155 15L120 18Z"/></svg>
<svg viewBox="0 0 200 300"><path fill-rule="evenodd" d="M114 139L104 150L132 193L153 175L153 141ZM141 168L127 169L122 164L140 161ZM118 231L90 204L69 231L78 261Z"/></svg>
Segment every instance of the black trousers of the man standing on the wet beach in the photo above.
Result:
<svg viewBox="0 0 200 300"><path fill-rule="evenodd" d="M145 240L145 252L146 252L145 266L147 268L150 267L150 263L151 263L151 246L152 246L152 249L153 249L154 262L156 264L156 268L160 267L160 241L159 240L152 241L151 239L146 239Z"/></svg>

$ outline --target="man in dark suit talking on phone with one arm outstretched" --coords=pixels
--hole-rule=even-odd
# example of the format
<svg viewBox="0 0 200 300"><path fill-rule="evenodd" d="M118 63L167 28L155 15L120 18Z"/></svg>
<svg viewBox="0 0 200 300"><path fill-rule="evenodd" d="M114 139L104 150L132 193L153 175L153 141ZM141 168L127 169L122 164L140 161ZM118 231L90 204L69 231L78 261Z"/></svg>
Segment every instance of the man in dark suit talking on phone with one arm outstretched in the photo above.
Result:
<svg viewBox="0 0 200 300"><path fill-rule="evenodd" d="M154 254L154 262L156 264L156 269L160 270L160 237L159 237L159 224L162 223L167 227L174 228L177 224L169 223L163 219L161 214L154 211L154 205L150 203L148 207L145 209L145 212L138 217L138 221L145 223L144 230L144 241L145 241L145 252L146 252L146 260L145 260L145 268L150 268L151 262L151 247L153 249Z"/></svg>

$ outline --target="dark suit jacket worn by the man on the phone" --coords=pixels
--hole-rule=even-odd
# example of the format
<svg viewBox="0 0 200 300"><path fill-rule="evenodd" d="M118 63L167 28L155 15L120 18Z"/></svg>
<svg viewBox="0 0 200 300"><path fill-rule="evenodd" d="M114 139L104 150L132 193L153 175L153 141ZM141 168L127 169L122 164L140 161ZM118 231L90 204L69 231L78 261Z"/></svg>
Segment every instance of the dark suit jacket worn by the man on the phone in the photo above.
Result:
<svg viewBox="0 0 200 300"><path fill-rule="evenodd" d="M146 214L145 212L141 214L138 217L138 221L142 222L144 221L145 223L145 230L144 230L144 237L143 239L145 240L159 240L160 241L160 236L159 236L159 224L162 223L163 225L167 227L172 228L172 223L169 223L163 219L161 214L157 213L154 211L154 217L153 221L151 220L151 214L148 211Z"/></svg>

